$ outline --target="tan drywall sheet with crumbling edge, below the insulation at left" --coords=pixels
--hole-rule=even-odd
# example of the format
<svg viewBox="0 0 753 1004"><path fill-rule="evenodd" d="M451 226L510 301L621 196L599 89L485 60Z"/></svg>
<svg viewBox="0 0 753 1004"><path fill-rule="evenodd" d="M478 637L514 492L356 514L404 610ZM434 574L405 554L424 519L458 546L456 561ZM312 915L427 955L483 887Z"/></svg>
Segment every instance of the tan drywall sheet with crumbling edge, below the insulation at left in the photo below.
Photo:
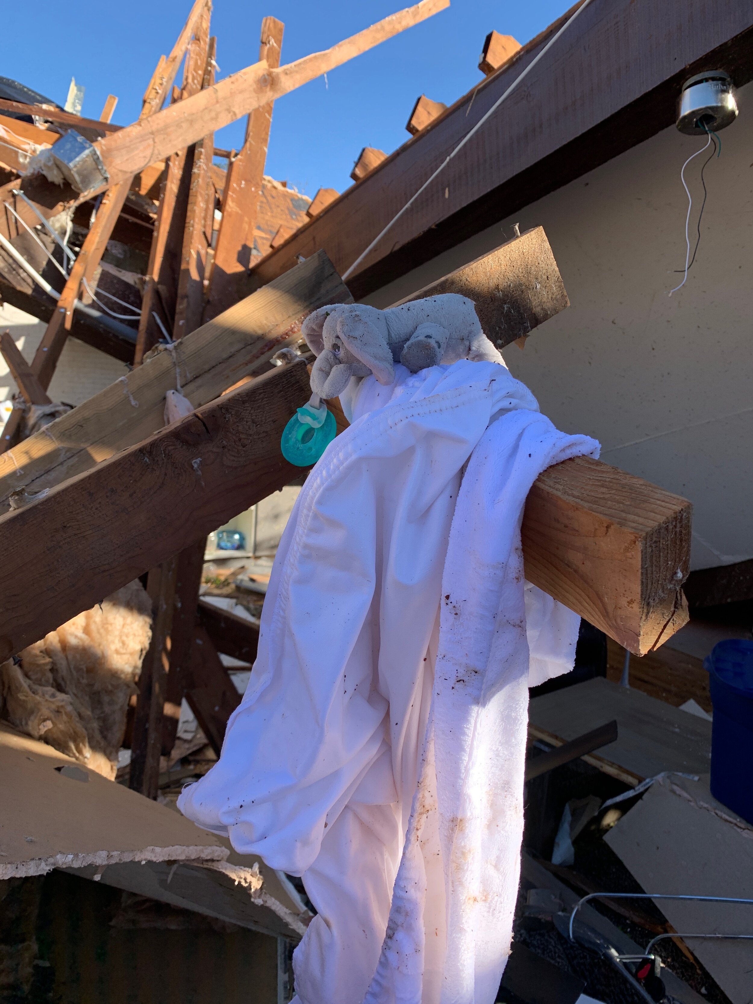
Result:
<svg viewBox="0 0 753 1004"><path fill-rule="evenodd" d="M0 878L54 867L228 857L193 822L5 723L0 804Z"/></svg>

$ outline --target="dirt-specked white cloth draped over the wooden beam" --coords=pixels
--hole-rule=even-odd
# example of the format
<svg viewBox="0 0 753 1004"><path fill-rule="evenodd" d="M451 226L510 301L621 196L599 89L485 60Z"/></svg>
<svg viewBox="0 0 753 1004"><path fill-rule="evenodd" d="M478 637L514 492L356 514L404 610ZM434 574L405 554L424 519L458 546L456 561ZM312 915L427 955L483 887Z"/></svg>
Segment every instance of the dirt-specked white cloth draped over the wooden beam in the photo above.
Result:
<svg viewBox="0 0 753 1004"><path fill-rule="evenodd" d="M528 686L579 618L526 583L546 467L596 456L505 366L351 381L277 551L251 682L180 809L302 875L300 1004L491 1004L523 824Z"/></svg>

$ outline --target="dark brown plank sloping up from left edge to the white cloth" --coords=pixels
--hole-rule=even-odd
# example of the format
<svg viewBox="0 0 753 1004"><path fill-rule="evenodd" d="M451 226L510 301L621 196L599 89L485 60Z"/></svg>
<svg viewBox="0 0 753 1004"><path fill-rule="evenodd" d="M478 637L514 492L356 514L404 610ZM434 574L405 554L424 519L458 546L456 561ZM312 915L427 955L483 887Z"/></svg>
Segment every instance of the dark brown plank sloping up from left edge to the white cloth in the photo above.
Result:
<svg viewBox="0 0 753 1004"><path fill-rule="evenodd" d="M0 658L298 477L280 436L310 394L280 366L1 516Z"/></svg>

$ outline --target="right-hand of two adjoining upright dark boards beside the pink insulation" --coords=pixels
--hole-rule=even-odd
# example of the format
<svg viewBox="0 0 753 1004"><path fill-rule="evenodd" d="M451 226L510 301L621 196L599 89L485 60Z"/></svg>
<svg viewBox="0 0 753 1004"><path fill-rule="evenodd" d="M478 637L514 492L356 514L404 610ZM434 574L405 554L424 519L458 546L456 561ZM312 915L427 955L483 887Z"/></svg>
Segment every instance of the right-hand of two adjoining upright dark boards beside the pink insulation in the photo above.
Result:
<svg viewBox="0 0 753 1004"><path fill-rule="evenodd" d="M181 701L193 686L192 661L199 586L204 568L206 538L185 547L176 561L175 608L170 646L170 672L165 690L162 753L169 756L175 745Z"/></svg>

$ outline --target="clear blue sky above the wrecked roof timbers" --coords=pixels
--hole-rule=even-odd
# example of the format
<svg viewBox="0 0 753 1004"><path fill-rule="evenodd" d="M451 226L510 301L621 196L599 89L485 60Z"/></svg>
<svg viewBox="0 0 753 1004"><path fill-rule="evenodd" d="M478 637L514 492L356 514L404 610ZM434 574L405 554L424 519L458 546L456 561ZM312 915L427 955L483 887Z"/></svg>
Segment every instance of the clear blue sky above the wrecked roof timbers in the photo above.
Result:
<svg viewBox="0 0 753 1004"><path fill-rule="evenodd" d="M402 0L214 0L219 76L255 62L264 15L285 24L282 60L327 48L409 6ZM362 147L392 153L408 139L405 126L421 93L451 104L482 74L479 54L493 28L525 43L569 6L568 0L452 0L448 10L280 98L275 104L267 174L306 195L343 191ZM127 124L161 53L168 53L191 0L38 0L33 14L10 4L0 75L13 77L60 104L70 77L86 88L82 114L97 118L108 93L113 121ZM219 147L238 147L244 124L216 134Z"/></svg>

